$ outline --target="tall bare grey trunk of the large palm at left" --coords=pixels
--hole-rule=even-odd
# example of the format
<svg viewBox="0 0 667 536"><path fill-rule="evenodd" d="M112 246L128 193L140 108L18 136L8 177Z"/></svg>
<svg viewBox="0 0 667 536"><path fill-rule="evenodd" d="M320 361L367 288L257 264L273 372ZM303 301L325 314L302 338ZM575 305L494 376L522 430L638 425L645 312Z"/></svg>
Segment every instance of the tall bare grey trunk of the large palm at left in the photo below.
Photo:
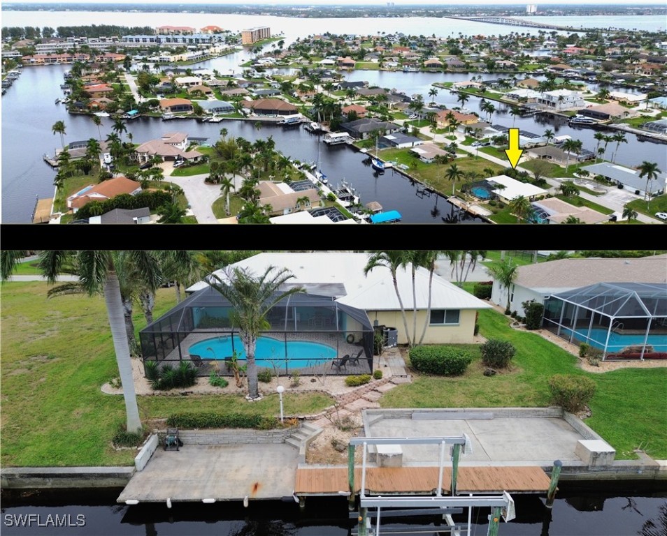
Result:
<svg viewBox="0 0 667 536"><path fill-rule="evenodd" d="M115 271L109 271L104 283L104 301L109 317L113 349L116 354L120 382L125 399L125 412L127 414L127 431L130 433L141 433L141 419L139 408L136 403L136 391L134 389L134 376L132 375L132 362L127 345L127 334L123 322L123 306L120 299L120 285Z"/></svg>

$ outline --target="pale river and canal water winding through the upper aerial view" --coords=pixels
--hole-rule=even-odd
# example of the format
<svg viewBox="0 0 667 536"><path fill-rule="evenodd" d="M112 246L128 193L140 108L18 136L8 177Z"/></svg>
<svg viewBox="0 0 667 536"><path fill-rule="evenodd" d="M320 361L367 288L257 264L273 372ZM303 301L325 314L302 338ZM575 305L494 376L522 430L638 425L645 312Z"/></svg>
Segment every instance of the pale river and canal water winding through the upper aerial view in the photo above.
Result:
<svg viewBox="0 0 667 536"><path fill-rule="evenodd" d="M134 24L173 23L173 13L132 13ZM24 26L36 24L36 21L48 20L48 24L57 27L59 24L94 24L99 22L100 13L92 12L21 12L3 11L3 26ZM104 13L108 24L127 24L127 14ZM217 22L215 15L178 14L180 24L191 24L201 27L205 24ZM638 17L643 24L650 17ZM225 15L222 27L240 28L270 24L272 31L283 32L286 43L296 37L303 36L303 20L288 17L253 17L248 15ZM388 31L403 31L406 34L421 34L426 22L429 29L439 36L452 34L454 31L464 31L465 34L485 31L488 33L504 33L515 31L515 27L503 27L494 24L466 23L461 28L460 22L447 19L419 19L419 18L386 18L363 20L364 31L368 33ZM545 21L548 22L548 21ZM347 26L346 26L347 24ZM478 26L482 27L481 29ZM658 26L659 27L659 26ZM315 19L308 20L308 31L330 31L332 33L352 33L359 28L359 19ZM521 29L522 32L530 29ZM267 45L268 46L268 45ZM239 64L250 57L247 51L236 52L225 57L212 59L193 68L217 69L221 72L241 70ZM29 223L37 198L51 198L54 194L52 186L55 170L43 162L43 154L53 154L59 147L59 135L52 133L52 125L56 121L64 121L66 126L66 142L87 140L89 137L99 137L98 129L89 116L74 115L66 112L64 105L55 105L56 98L62 96L59 89L63 82L63 73L68 66L40 66L24 68L23 74L7 94L2 98L2 223ZM424 102L429 103L431 98L428 92L433 82L457 82L468 80L468 73L401 73L385 71L354 71L347 73L346 80L365 80L369 84L396 89L408 96L421 94ZM499 75L482 75L485 79L499 77ZM438 90L436 103L454 107L459 105L456 95L445 89ZM466 107L478 112L480 99L471 98ZM562 119L535 117L512 117L509 108L496 103L494 123L505 126L517 126L526 131L543 133L550 128L556 135L568 134L575 139L582 140L584 148L594 150L596 140L595 131L588 128L573 128ZM101 126L102 138L110 133L112 121L103 119ZM282 129L278 126L265 125L261 130L254 128L254 121L224 121L220 124L198 123L194 119L178 120L164 123L159 119L142 118L127 123L127 130L131 133L135 143L143 143L160 137L171 131L182 131L193 137L208 137L209 143L214 143L220 137L220 128L226 128L229 135L243 136L249 140L258 137L266 138L269 135L275 140L276 149L287 156L300 161L316 162L320 147L317 136L310 135L303 129ZM642 161L658 163L659 169L667 169L667 154L664 145L651 142L642 142L635 135L626 134L628 143L621 144L617 151L617 163L636 166ZM394 170L388 170L378 177L374 174L366 156L347 146L321 148L321 168L329 177L331 186L346 181L357 190L361 202L380 202L385 210L397 209L403 215L404 223L443 223L457 219L461 223L483 223L479 218L460 214L457 209L438 195L426 197L420 194L417 185L412 184L406 177ZM615 149L615 144L609 144L608 156ZM457 218L454 218L457 216Z"/></svg>

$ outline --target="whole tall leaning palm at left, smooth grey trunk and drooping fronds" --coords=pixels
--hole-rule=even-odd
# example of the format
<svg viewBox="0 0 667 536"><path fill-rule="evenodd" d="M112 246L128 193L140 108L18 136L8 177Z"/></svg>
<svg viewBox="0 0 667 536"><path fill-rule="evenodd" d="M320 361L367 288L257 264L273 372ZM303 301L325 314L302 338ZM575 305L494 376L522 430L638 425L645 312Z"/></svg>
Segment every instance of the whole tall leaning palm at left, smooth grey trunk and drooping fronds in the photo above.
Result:
<svg viewBox="0 0 667 536"><path fill-rule="evenodd" d="M20 258L16 251L0 252L0 278L6 281L13 273ZM147 251L125 252L143 279L152 288L161 283L155 258ZM136 403L132 364L127 342L127 333L123 320L123 306L120 297L120 284L116 273L115 255L110 251L41 251L39 253L39 269L48 283L57 281L64 267L75 267L79 281L89 295L102 294L106 301L106 309L113 339L118 372L123 389L125 412L127 415L127 431L141 433L141 418Z"/></svg>

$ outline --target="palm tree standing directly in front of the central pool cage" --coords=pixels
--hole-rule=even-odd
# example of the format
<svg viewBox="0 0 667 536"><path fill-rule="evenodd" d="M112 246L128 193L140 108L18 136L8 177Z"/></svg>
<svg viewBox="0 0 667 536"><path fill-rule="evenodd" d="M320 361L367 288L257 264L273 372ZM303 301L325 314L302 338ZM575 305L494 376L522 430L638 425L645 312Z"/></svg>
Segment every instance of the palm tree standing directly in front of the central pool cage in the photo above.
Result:
<svg viewBox="0 0 667 536"><path fill-rule="evenodd" d="M303 292L300 286L289 290L280 290L289 279L294 278L288 269L277 269L269 266L264 274L255 276L244 268L228 267L223 271L224 277L215 272L210 274L209 284L222 297L229 301L233 311L230 314L231 325L238 328L239 336L245 348L248 362L248 400L260 398L257 384L257 364L254 352L259 334L270 327L266 315L271 308L286 297Z"/></svg>

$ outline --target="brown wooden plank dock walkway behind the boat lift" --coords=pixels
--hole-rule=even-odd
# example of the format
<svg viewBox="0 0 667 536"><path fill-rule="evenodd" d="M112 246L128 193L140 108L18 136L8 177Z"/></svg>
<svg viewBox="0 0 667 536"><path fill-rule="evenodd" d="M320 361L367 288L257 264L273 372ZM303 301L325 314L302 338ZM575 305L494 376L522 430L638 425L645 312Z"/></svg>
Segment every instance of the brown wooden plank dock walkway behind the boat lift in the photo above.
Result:
<svg viewBox="0 0 667 536"><path fill-rule="evenodd" d="M443 493L450 495L451 468L443 471ZM460 493L546 493L550 478L536 466L461 467ZM361 468L354 470L356 491L361 489ZM438 486L437 467L372 467L366 469L366 493L386 495L433 494ZM347 492L347 468L298 468L294 493L297 496L339 495Z"/></svg>

